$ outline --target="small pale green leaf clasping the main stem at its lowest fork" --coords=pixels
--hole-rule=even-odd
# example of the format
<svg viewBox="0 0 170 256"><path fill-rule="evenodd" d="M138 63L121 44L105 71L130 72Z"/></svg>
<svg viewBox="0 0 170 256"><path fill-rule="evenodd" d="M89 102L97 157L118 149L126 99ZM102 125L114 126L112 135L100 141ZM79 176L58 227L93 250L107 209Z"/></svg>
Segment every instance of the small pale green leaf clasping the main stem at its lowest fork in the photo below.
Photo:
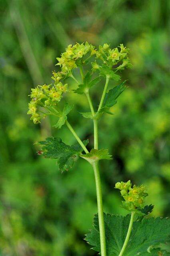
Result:
<svg viewBox="0 0 170 256"><path fill-rule="evenodd" d="M80 155L82 158L86 159L88 162L92 163L94 162L95 160L101 160L101 159L112 159L111 155L108 153L108 149L100 149L100 150L97 150L97 149L94 149L92 148L92 150L87 153L87 154L83 154L83 155Z"/></svg>

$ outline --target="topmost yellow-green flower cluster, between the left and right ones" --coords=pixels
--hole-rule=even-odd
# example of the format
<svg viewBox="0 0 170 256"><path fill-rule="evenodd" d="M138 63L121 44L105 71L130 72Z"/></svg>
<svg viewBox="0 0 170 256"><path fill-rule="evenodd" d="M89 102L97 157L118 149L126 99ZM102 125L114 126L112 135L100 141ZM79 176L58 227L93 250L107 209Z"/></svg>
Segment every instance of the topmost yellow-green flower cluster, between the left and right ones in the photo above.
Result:
<svg viewBox="0 0 170 256"><path fill-rule="evenodd" d="M66 75L72 71L73 68L77 68L79 65L78 60L82 59L88 53L90 56L96 53L95 47L88 42L85 44L69 44L66 48L66 52L62 53L60 58L57 58L58 63L56 65L59 65L62 68L62 73ZM84 64L83 60L81 64Z"/></svg>

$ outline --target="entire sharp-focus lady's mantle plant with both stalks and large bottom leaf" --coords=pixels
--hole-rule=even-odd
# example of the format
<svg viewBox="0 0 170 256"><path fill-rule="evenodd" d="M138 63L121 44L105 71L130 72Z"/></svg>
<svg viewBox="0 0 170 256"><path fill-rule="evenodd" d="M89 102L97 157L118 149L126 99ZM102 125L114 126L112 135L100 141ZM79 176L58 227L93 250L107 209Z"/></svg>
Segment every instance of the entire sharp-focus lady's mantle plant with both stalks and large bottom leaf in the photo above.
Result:
<svg viewBox="0 0 170 256"><path fill-rule="evenodd" d="M132 186L128 182L118 182L115 188L120 190L123 197L122 207L130 212L126 217L104 214L102 203L102 189L99 172L99 160L111 159L107 149L98 148L98 121L103 114L112 114L110 108L117 103L117 98L126 89L126 81L118 86L113 86L107 92L108 84L120 80L119 71L131 68L128 58L128 49L120 44L118 48L111 49L110 45L99 46L98 50L86 42L85 44L69 45L66 52L57 58L60 71L52 72L54 84L38 85L32 89L28 114L35 124L41 122L48 115L58 119L55 127L66 125L77 140L72 146L64 144L60 138L46 138L38 142L41 150L38 152L46 158L57 159L61 171L72 168L74 162L84 158L93 167L98 214L94 218L94 226L85 240L100 252L102 256L149 256L170 255L166 242L170 235L170 222L167 218L147 218L153 206L144 207L144 199L148 195L146 187ZM91 68L89 68L89 64ZM74 76L74 69L79 69L81 82ZM85 70L87 70L85 72ZM69 79L77 84L73 91L85 94L90 106L90 112L81 113L84 118L89 118L94 124L94 148L88 151L88 140L82 141L74 128L68 122L68 114L73 106L68 102L64 104L64 94L69 90ZM95 109L90 98L90 88L104 78L106 80L98 108ZM66 82L68 81L68 82Z"/></svg>

